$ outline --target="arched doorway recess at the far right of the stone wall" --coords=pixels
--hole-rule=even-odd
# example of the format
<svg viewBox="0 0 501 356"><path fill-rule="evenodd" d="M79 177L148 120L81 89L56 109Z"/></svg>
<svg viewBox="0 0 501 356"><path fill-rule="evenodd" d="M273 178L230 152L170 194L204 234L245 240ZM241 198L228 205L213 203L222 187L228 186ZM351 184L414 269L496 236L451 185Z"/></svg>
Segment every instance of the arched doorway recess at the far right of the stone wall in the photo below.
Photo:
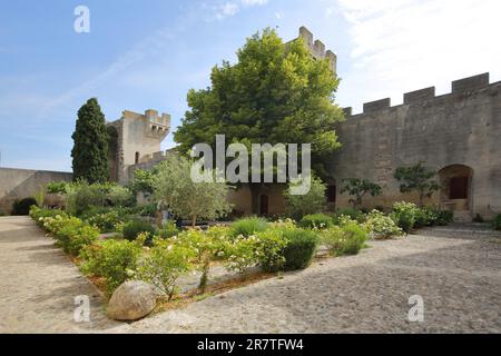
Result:
<svg viewBox="0 0 501 356"><path fill-rule="evenodd" d="M448 166L439 171L440 205L443 209L472 210L473 169L464 165Z"/></svg>

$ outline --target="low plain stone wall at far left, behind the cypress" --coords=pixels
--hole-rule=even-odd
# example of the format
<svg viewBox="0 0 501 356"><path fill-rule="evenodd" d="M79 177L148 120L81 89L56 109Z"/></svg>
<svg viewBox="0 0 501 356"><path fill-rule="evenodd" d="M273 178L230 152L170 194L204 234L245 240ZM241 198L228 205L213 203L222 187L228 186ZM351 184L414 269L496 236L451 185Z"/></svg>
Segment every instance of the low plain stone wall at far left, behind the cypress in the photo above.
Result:
<svg viewBox="0 0 501 356"><path fill-rule="evenodd" d="M33 197L50 181L70 181L61 171L0 168L0 211L10 212L16 199Z"/></svg>

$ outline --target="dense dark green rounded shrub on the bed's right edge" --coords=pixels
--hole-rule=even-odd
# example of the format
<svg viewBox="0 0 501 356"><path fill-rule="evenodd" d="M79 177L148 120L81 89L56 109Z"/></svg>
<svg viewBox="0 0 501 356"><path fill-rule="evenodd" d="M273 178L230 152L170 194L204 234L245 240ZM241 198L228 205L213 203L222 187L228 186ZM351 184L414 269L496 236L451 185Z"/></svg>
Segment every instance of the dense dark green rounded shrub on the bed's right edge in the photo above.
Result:
<svg viewBox="0 0 501 356"><path fill-rule="evenodd" d="M287 243L283 250L285 270L304 269L312 263L318 246L318 236L312 230L284 229Z"/></svg>

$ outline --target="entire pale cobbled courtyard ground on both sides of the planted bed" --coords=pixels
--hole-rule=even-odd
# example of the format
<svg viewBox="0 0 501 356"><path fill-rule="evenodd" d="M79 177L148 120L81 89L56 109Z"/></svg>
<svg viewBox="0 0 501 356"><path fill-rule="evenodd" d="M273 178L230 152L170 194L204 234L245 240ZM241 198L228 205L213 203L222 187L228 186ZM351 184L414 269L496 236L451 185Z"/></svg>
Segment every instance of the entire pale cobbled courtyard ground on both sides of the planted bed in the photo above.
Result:
<svg viewBox="0 0 501 356"><path fill-rule="evenodd" d="M72 320L81 294L91 296L90 324ZM423 323L407 319L414 295ZM501 238L449 227L370 241L358 256L118 324L29 218L0 218L0 300L2 333L501 333Z"/></svg>

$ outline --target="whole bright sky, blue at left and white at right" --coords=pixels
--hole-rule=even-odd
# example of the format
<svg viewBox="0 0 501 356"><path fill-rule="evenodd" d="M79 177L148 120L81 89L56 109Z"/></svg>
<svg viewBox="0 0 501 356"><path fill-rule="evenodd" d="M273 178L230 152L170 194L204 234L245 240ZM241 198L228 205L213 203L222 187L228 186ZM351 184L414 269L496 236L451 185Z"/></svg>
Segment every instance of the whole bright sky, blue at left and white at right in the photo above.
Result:
<svg viewBox="0 0 501 356"><path fill-rule="evenodd" d="M90 9L90 33L73 10ZM306 26L338 56L341 106L485 71L501 80L498 0L18 0L0 4L1 167L70 170L78 108L108 120L148 108L179 125L190 88L235 60L265 27L289 40ZM164 148L173 146L171 135Z"/></svg>

